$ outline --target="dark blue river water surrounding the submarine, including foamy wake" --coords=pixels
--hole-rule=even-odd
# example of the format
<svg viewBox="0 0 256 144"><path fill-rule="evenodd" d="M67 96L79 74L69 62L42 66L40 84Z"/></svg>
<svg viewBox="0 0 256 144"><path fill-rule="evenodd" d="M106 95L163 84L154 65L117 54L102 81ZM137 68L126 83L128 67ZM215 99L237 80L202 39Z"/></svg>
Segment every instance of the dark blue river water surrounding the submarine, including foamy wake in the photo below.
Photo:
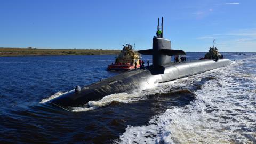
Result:
<svg viewBox="0 0 256 144"><path fill-rule="evenodd" d="M0 57L0 143L256 143L256 53L222 54L236 62L71 111L44 102L118 74L115 55Z"/></svg>

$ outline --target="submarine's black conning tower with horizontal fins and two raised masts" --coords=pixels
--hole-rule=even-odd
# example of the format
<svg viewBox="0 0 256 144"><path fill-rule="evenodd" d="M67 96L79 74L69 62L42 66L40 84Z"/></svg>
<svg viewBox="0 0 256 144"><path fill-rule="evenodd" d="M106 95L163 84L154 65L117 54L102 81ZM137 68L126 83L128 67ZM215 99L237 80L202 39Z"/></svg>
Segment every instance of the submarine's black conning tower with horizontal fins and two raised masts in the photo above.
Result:
<svg viewBox="0 0 256 144"><path fill-rule="evenodd" d="M163 66L171 63L171 56L173 55L186 55L182 50L172 50L171 41L163 38L163 17L161 30L159 29L159 18L157 24L156 36L153 38L152 49L139 50L144 55L152 55L153 66Z"/></svg>

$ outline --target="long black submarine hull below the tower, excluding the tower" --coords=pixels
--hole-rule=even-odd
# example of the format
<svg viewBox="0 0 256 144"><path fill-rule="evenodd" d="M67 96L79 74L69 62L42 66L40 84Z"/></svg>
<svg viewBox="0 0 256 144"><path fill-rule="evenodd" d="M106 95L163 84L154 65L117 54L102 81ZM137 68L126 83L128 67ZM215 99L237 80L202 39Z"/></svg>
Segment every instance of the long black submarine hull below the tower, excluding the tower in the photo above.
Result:
<svg viewBox="0 0 256 144"><path fill-rule="evenodd" d="M137 69L103 79L97 83L87 85L80 91L71 91L60 95L48 103L59 107L75 107L84 105L89 101L98 101L106 95L114 93L134 93L140 92L161 82L172 81L205 71L224 67L232 63L228 59L214 60L196 60L185 63L170 63L164 66L149 66L146 69Z"/></svg>

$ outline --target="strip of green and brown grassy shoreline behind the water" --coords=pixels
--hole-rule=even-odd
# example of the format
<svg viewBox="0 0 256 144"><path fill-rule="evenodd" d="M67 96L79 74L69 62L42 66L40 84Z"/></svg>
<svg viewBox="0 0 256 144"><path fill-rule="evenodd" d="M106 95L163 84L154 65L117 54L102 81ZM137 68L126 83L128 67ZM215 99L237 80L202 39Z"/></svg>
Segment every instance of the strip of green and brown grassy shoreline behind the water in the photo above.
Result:
<svg viewBox="0 0 256 144"><path fill-rule="evenodd" d="M102 49L36 49L28 48L4 48L0 47L0 56L22 55L112 55L119 54L119 50Z"/></svg>

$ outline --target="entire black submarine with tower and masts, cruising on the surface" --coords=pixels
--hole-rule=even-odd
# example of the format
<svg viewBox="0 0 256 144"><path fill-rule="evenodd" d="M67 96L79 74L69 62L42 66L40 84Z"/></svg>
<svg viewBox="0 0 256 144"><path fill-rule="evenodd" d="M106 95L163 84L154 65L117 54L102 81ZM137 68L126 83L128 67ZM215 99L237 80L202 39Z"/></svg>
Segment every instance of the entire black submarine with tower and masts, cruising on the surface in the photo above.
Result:
<svg viewBox="0 0 256 144"><path fill-rule="evenodd" d="M75 90L51 99L46 103L68 109L69 107L85 105L89 101L98 101L110 94L141 92L158 83L204 73L232 63L229 59L204 59L183 63L171 62L172 56L186 55L186 53L183 50L171 49L171 41L163 38L163 17L161 30L159 29L158 18L157 32L153 38L152 49L139 50L138 52L152 55L153 65L102 79L85 87L76 86Z"/></svg>

